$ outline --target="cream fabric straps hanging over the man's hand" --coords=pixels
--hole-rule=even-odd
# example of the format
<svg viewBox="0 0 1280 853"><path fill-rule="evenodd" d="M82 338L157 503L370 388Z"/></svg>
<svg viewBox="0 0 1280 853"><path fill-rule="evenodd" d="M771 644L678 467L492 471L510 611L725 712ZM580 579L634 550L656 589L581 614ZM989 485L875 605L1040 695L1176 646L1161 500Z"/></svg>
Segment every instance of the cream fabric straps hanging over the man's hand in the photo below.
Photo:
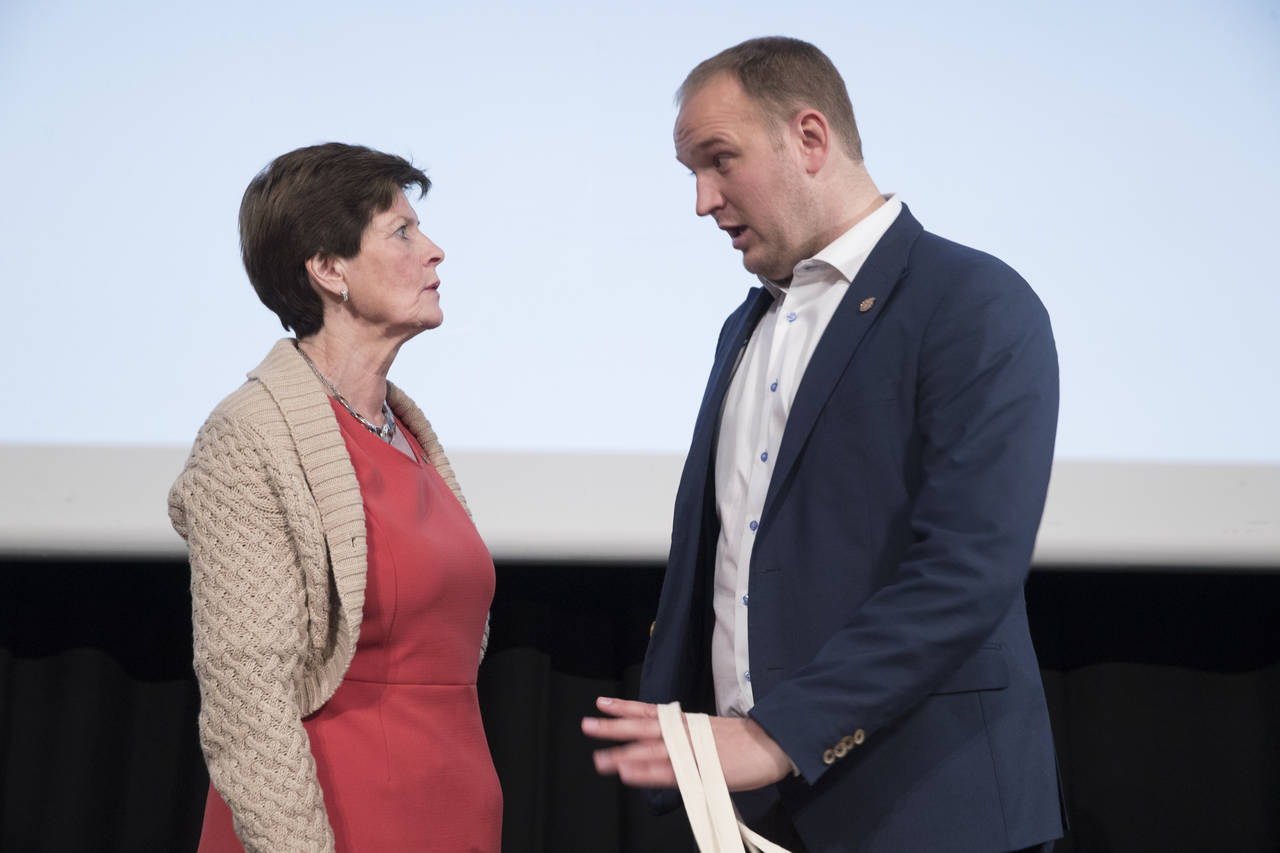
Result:
<svg viewBox="0 0 1280 853"><path fill-rule="evenodd" d="M659 704L658 725L676 771L689 826L701 853L787 853L751 831L739 817L724 784L712 721L705 713L681 713L678 702Z"/></svg>

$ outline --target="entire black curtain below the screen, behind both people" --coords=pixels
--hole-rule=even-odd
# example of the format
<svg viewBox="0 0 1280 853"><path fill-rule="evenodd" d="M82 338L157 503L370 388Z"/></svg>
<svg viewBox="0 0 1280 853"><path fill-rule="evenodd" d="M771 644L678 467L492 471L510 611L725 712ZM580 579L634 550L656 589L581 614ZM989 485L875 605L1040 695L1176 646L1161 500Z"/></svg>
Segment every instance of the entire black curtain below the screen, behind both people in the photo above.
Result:
<svg viewBox="0 0 1280 853"><path fill-rule="evenodd" d="M591 770L634 695L655 565L498 566L485 727L508 853L692 850ZM1071 829L1060 853L1280 850L1280 573L1038 570L1027 588ZM193 850L187 569L0 562L0 850Z"/></svg>

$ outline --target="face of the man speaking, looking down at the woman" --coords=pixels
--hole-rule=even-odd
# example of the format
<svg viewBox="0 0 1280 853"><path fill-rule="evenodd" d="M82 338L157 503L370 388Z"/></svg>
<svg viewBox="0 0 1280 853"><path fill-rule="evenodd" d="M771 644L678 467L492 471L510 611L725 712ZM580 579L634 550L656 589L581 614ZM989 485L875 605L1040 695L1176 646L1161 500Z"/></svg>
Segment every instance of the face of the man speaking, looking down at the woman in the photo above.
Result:
<svg viewBox="0 0 1280 853"><path fill-rule="evenodd" d="M808 256L813 229L804 167L788 128L771 126L726 73L685 100L675 137L676 159L698 182L698 215L716 219L749 272L790 278Z"/></svg>

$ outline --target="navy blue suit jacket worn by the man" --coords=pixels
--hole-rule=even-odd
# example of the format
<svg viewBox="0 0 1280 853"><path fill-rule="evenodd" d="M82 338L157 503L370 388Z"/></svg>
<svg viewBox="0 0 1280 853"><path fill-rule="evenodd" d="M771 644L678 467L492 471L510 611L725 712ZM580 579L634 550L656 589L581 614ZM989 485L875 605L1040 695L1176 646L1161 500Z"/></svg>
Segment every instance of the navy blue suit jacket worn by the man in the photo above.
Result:
<svg viewBox="0 0 1280 853"><path fill-rule="evenodd" d="M721 330L676 497L640 698L713 711L714 457L763 288ZM1009 850L1061 835L1023 584L1053 456L1048 315L905 207L809 362L750 561L751 717L799 767L818 850Z"/></svg>

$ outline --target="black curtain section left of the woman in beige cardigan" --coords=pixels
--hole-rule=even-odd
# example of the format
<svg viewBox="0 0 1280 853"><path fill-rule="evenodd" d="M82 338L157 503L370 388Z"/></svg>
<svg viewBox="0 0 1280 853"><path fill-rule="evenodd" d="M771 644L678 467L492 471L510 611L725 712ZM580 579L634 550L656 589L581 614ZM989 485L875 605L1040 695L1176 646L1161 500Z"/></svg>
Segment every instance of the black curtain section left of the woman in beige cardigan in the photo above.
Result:
<svg viewBox="0 0 1280 853"><path fill-rule="evenodd" d="M178 562L0 564L0 850L195 850L191 597Z"/></svg>

